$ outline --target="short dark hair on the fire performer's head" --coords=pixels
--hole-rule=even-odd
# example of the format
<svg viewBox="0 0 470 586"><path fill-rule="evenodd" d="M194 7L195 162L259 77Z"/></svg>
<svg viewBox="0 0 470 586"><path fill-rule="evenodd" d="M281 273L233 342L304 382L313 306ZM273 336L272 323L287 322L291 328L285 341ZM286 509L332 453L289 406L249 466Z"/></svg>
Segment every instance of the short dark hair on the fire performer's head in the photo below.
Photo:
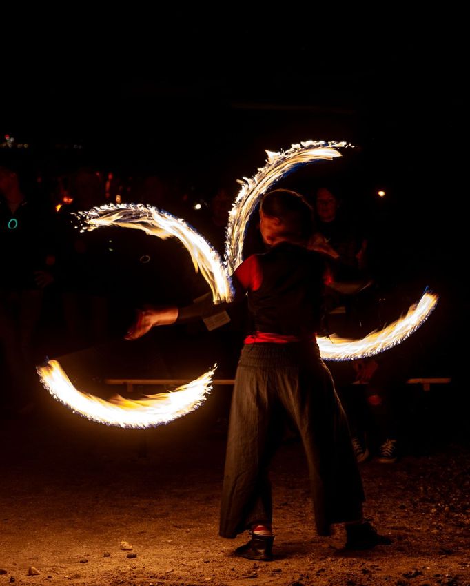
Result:
<svg viewBox="0 0 470 586"><path fill-rule="evenodd" d="M307 241L314 231L314 211L307 199L290 189L268 191L261 202L267 216L277 217L284 229L280 235Z"/></svg>

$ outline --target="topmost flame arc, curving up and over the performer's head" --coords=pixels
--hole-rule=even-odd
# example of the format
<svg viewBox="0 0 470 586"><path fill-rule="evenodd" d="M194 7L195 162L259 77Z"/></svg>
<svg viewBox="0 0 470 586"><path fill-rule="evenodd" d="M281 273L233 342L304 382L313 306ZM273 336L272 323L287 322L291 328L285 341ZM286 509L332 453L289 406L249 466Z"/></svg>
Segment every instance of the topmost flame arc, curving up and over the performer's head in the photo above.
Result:
<svg viewBox="0 0 470 586"><path fill-rule="evenodd" d="M348 145L345 142L306 141L293 144L291 148L279 153L267 153L267 163L251 179L244 177L232 210L229 213L227 238L225 240L225 262L232 274L243 262L243 242L245 231L256 204L280 179L298 166L318 160L331 160L341 157L336 148Z"/></svg>

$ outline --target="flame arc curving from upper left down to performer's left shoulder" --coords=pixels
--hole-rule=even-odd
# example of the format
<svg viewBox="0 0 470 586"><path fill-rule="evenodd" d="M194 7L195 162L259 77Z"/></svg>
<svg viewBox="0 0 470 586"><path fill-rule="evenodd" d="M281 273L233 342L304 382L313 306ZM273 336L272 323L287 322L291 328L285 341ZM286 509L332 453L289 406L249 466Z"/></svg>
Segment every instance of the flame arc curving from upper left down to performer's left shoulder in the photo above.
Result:
<svg viewBox="0 0 470 586"><path fill-rule="evenodd" d="M232 284L220 255L183 219L142 204L109 204L77 215L81 219L83 231L92 231L100 226L121 226L142 230L162 240L178 238L190 253L196 272L201 271L209 284L214 303L232 300Z"/></svg>

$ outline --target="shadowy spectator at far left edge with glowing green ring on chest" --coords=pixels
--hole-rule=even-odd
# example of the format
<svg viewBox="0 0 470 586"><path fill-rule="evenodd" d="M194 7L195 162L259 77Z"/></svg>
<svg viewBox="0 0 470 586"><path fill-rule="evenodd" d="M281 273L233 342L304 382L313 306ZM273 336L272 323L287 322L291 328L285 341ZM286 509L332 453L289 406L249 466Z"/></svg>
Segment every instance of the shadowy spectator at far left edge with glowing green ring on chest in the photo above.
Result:
<svg viewBox="0 0 470 586"><path fill-rule="evenodd" d="M34 400L34 335L44 289L54 279L54 210L34 198L26 173L0 166L0 345L6 398L15 409ZM7 392L8 392L7 391Z"/></svg>

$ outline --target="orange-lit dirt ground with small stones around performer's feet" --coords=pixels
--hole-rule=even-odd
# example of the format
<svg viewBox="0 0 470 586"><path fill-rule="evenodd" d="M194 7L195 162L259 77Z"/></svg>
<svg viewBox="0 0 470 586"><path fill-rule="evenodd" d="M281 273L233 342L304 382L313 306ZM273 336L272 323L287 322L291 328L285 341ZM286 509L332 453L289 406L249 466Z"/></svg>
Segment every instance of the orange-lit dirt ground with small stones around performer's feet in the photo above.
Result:
<svg viewBox="0 0 470 586"><path fill-rule="evenodd" d="M342 527L316 536L294 437L272 467L275 560L230 556L247 536L217 533L216 392L145 431L89 422L47 393L32 415L0 421L0 586L470 584L469 442L433 421L395 465L361 465L365 513L392 545L347 553Z"/></svg>

